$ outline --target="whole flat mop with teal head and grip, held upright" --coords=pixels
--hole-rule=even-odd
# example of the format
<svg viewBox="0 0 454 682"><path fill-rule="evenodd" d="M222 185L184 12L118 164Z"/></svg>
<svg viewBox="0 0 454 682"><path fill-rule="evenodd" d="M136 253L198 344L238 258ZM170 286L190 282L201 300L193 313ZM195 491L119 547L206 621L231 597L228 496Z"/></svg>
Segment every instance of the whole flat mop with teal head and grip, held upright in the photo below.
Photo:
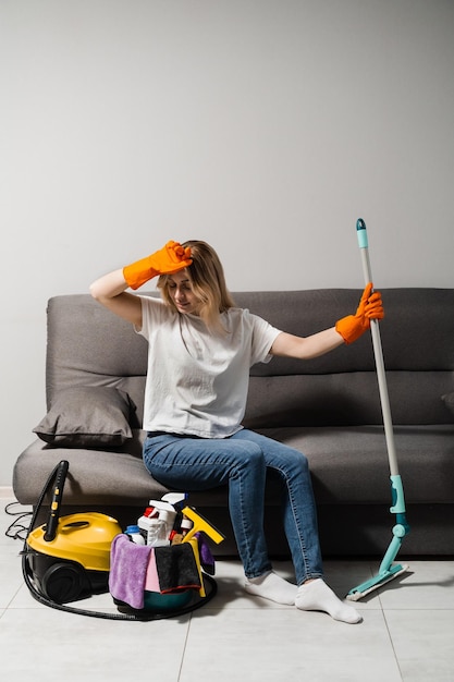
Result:
<svg viewBox="0 0 454 682"><path fill-rule="evenodd" d="M372 282L372 276L370 270L369 251L367 230L365 221L359 218L356 222L356 233L358 238L359 249L361 254L363 270L366 284ZM373 589L378 589L389 581L397 577L408 570L407 565L394 563L398 550L402 546L404 536L409 532L409 526L405 517L405 499L404 488L402 485L402 478L398 473L397 455L394 444L394 431L391 419L390 400L388 395L386 377L384 372L383 352L381 348L379 322L377 319L372 319L370 324L370 330L372 334L373 354L377 366L377 378L380 392L381 410L383 414L384 436L388 448L388 459L390 463L390 479L391 479L391 494L392 494L392 507L390 512L395 514L395 525L392 529L393 538L390 546L383 557L377 575L370 580L353 587L346 595L346 598L352 601L358 601Z"/></svg>

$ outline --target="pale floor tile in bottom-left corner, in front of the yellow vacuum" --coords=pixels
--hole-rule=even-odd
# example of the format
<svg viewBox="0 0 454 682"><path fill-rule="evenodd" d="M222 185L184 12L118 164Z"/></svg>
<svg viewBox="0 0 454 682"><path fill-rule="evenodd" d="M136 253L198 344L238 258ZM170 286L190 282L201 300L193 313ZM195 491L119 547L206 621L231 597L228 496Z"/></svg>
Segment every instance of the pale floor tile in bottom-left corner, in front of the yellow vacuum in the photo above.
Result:
<svg viewBox="0 0 454 682"><path fill-rule="evenodd" d="M140 623L8 609L0 619L2 678L176 682L189 617Z"/></svg>

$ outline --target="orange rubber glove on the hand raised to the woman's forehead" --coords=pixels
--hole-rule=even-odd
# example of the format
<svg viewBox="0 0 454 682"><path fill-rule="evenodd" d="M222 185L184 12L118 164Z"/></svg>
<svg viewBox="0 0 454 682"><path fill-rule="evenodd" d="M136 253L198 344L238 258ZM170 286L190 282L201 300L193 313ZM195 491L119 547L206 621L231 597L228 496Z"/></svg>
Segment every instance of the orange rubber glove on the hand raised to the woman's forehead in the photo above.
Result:
<svg viewBox="0 0 454 682"><path fill-rule="evenodd" d="M191 246L184 248L179 242L172 240L151 256L126 265L123 268L123 277L131 289L138 289L157 275L180 272L192 263Z"/></svg>

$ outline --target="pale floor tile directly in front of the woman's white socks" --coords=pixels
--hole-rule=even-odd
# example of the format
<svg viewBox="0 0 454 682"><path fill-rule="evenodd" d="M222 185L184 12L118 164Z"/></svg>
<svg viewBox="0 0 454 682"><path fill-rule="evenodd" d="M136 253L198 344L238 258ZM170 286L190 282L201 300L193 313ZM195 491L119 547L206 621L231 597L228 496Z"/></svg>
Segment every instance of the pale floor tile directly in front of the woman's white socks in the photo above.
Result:
<svg viewBox="0 0 454 682"><path fill-rule="evenodd" d="M368 681L401 680L381 611L347 625L296 609L212 610L192 620L181 682L364 682L366 669Z"/></svg>

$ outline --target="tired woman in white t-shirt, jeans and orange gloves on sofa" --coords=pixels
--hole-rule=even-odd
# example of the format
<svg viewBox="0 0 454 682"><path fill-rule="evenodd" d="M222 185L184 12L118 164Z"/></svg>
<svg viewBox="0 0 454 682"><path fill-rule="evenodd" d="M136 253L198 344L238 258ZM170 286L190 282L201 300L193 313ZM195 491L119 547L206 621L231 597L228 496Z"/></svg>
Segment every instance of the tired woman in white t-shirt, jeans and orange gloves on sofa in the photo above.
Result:
<svg viewBox="0 0 454 682"><path fill-rule="evenodd" d="M159 276L163 301L126 292ZM229 509L245 589L348 623L359 613L323 582L310 473L292 448L242 427L249 367L273 355L307 360L352 343L381 319L381 295L366 287L355 315L307 338L235 307L222 265L206 242L168 244L95 281L91 295L128 320L149 344L144 463L164 486L229 486ZM267 470L280 476L283 522L296 585L272 571L262 528Z"/></svg>

